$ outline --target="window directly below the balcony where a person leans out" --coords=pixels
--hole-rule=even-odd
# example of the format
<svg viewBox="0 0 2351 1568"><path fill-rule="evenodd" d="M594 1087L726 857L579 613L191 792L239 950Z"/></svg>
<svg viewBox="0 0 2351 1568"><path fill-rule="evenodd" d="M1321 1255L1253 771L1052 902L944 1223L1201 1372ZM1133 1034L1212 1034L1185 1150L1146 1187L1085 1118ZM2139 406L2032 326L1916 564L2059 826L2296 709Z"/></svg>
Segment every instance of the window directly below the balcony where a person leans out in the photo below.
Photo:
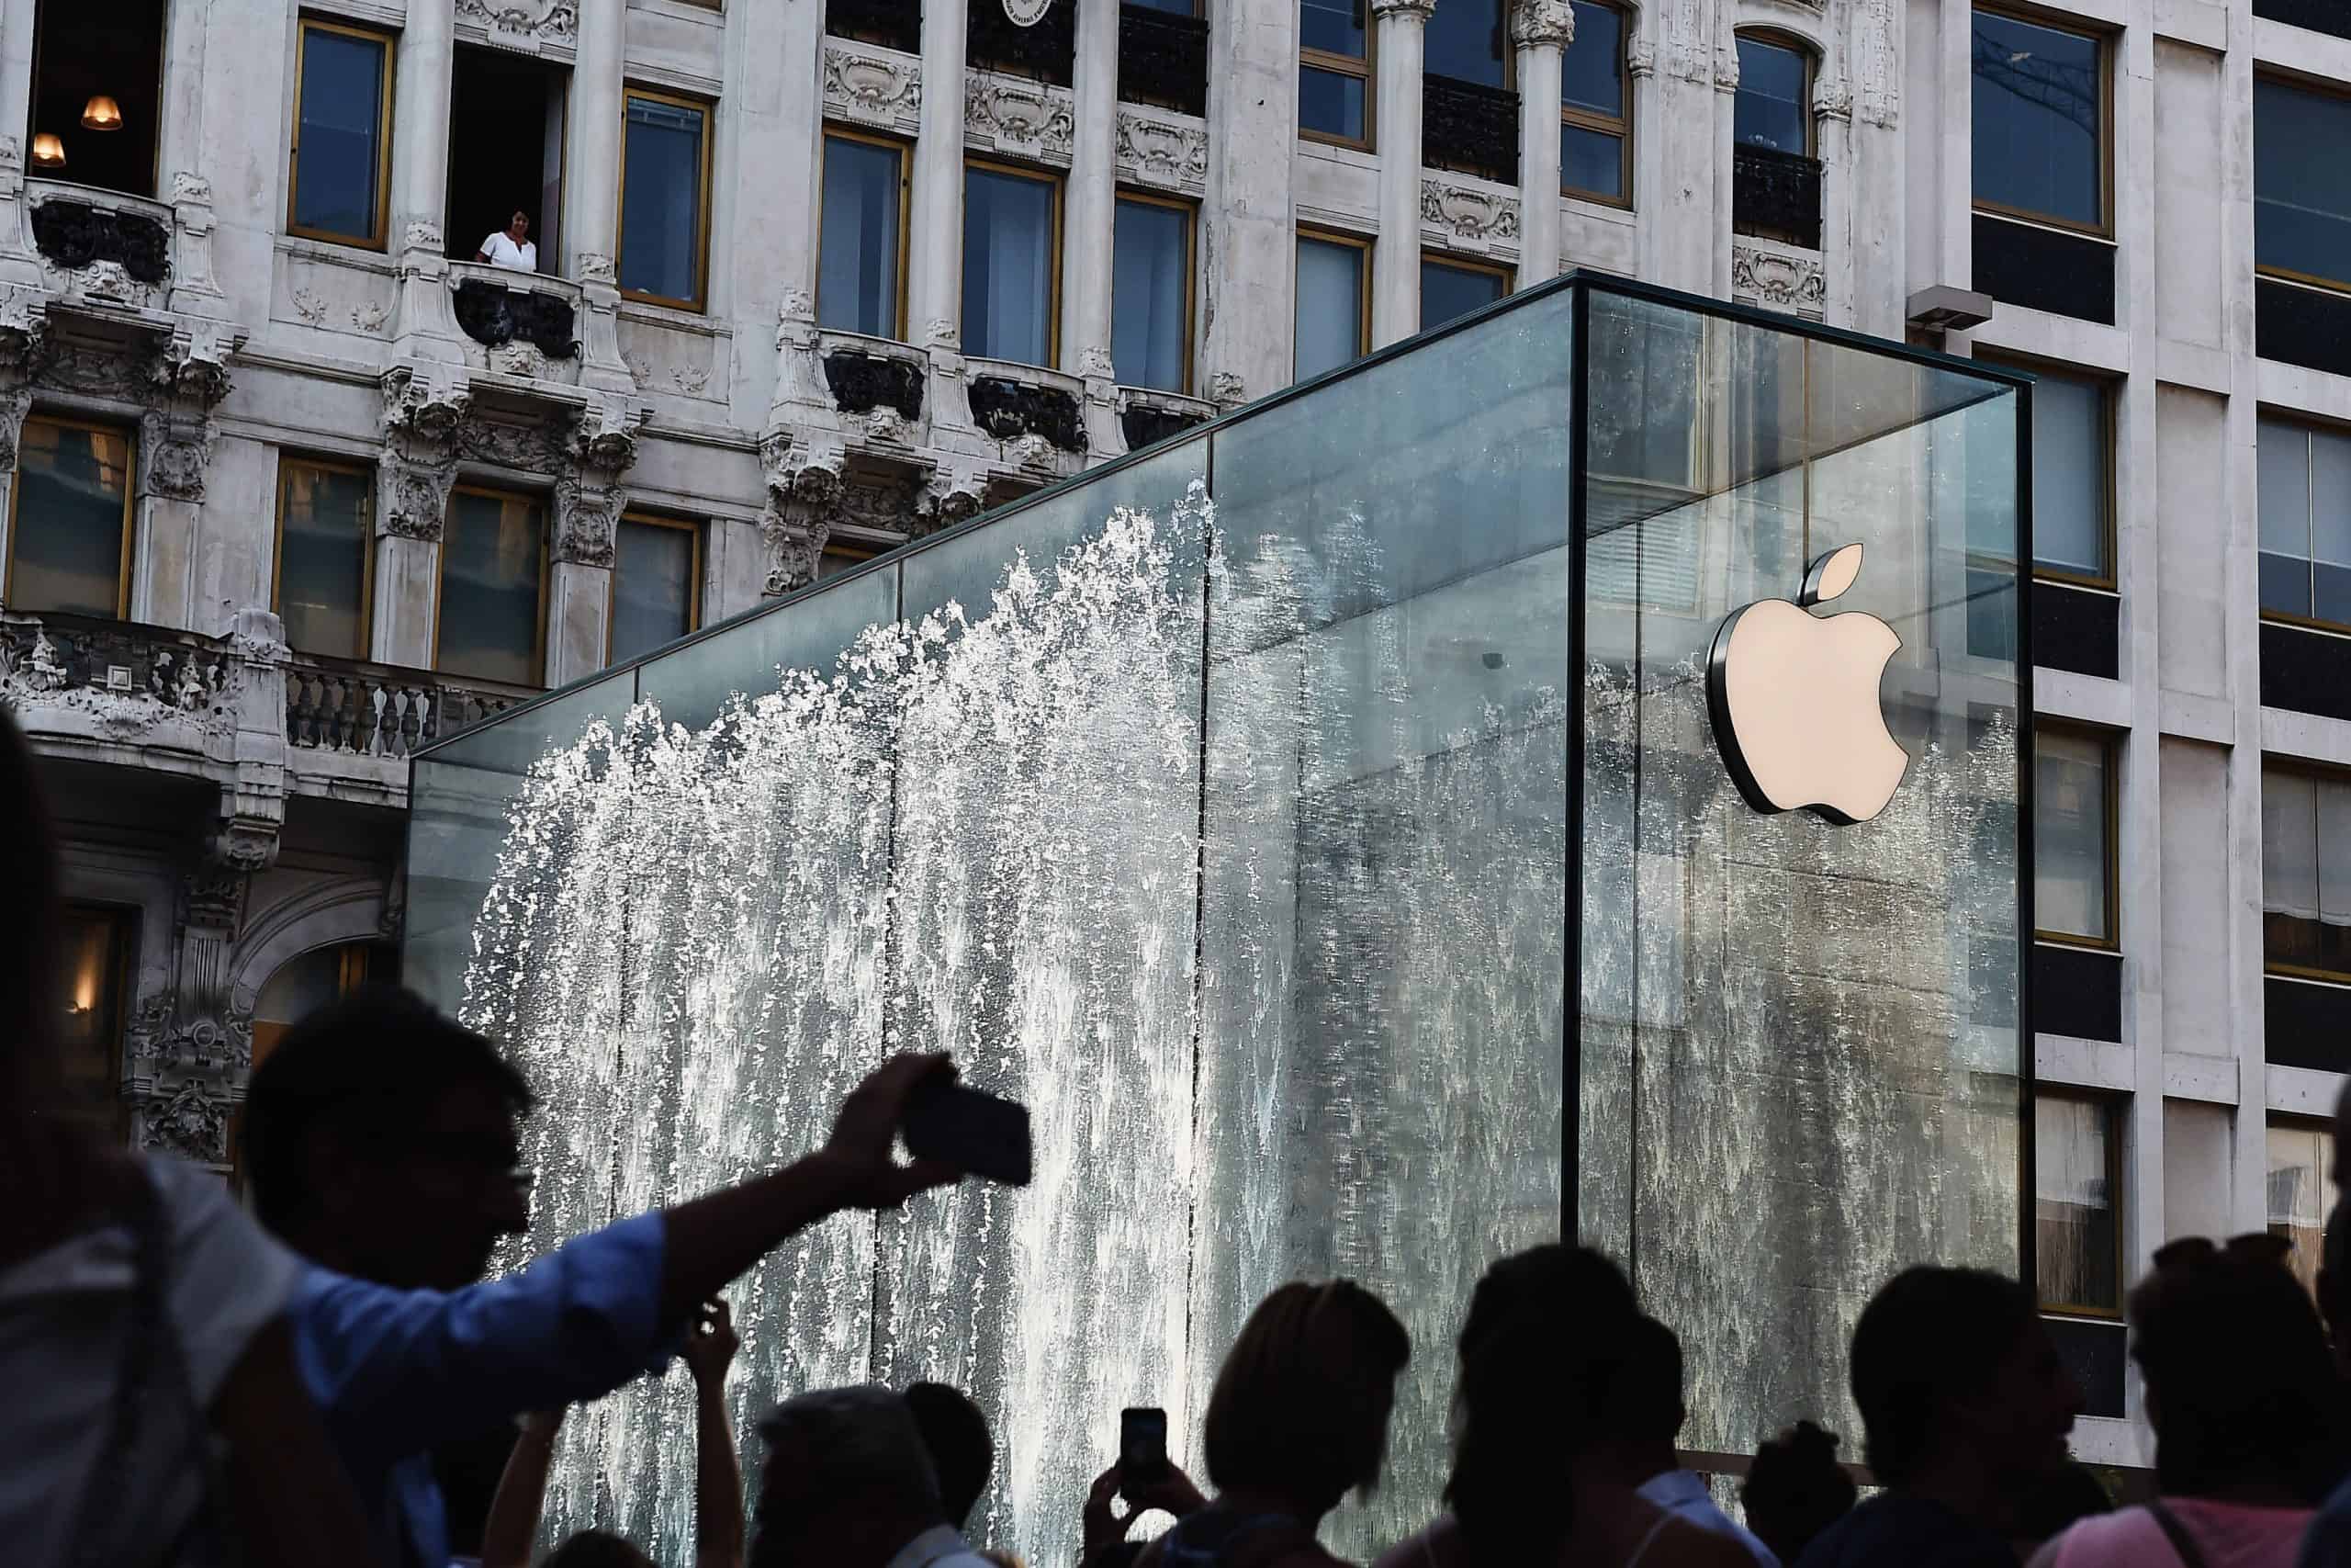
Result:
<svg viewBox="0 0 2351 1568"><path fill-rule="evenodd" d="M442 531L433 668L536 686L545 670L548 520L536 496L461 487Z"/></svg>

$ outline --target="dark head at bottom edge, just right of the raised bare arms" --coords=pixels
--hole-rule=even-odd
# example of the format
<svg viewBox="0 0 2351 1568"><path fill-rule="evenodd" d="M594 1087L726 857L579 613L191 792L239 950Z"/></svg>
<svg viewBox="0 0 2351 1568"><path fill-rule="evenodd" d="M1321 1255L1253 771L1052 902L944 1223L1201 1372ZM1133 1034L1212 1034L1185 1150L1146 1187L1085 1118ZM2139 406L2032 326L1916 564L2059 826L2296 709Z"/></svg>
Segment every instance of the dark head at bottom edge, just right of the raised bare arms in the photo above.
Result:
<svg viewBox="0 0 2351 1568"><path fill-rule="evenodd" d="M785 1399L759 1422L752 1568L882 1568L947 1523L938 1476L905 1399L877 1385Z"/></svg>

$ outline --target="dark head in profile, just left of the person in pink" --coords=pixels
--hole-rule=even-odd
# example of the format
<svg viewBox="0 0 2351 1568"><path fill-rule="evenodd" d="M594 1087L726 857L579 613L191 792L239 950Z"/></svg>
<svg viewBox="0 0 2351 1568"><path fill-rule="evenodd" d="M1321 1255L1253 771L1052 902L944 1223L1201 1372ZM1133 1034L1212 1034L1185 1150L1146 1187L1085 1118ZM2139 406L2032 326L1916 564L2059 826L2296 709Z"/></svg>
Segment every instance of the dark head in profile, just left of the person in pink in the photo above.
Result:
<svg viewBox="0 0 2351 1568"><path fill-rule="evenodd" d="M1853 1401L1886 1486L1963 1460L2022 1495L2064 1465L2081 1389L2031 1291L1982 1269L1914 1267L1862 1307Z"/></svg>

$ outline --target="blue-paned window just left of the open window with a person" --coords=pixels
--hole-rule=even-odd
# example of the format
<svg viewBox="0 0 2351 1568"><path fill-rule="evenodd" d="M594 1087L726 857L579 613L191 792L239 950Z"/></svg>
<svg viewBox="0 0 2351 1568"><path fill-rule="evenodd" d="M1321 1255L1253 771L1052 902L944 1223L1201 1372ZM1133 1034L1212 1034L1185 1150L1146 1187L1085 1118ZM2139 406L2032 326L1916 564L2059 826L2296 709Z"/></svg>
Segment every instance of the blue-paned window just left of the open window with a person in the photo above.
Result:
<svg viewBox="0 0 2351 1568"><path fill-rule="evenodd" d="M301 19L287 233L383 249L393 181L393 40Z"/></svg>

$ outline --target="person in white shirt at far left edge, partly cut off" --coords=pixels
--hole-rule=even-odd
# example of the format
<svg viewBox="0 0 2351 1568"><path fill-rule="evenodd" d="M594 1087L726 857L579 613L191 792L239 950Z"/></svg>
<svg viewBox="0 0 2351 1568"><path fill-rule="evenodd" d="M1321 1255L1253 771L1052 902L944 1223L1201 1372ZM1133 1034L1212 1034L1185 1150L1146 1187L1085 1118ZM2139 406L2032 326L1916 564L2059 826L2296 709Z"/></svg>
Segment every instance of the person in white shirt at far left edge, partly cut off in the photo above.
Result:
<svg viewBox="0 0 2351 1568"><path fill-rule="evenodd" d="M282 1316L301 1265L219 1178L56 1105L56 858L0 708L0 1540L21 1568L367 1563Z"/></svg>

